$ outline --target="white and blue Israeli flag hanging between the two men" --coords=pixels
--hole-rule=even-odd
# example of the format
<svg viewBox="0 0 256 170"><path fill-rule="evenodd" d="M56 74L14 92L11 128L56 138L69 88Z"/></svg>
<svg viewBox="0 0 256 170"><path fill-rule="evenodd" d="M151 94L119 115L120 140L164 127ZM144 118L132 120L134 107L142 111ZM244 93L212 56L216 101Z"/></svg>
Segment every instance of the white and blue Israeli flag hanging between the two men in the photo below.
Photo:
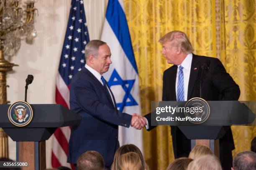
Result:
<svg viewBox="0 0 256 170"><path fill-rule="evenodd" d="M111 50L112 64L103 76L108 81L118 110L130 115L141 114L141 99L131 37L125 17L123 0L109 0L101 40ZM120 145L134 144L143 152L142 130L119 127Z"/></svg>

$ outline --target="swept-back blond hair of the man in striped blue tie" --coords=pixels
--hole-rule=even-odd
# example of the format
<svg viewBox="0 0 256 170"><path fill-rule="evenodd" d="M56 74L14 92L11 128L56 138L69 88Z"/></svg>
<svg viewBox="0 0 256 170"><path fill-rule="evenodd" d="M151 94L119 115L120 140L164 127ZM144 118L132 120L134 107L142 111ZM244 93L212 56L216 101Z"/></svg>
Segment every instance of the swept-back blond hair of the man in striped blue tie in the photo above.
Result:
<svg viewBox="0 0 256 170"><path fill-rule="evenodd" d="M172 46L181 47L182 52L185 54L189 54L193 51L191 42L189 41L187 35L182 31L168 32L166 35L160 38L159 42L161 44L170 42L170 45Z"/></svg>

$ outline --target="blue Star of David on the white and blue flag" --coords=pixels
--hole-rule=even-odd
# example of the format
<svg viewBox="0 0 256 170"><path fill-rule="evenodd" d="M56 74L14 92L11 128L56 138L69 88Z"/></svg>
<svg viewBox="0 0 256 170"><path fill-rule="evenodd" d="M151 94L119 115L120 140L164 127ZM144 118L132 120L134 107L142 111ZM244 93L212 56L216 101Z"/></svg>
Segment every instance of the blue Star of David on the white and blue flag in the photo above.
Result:
<svg viewBox="0 0 256 170"><path fill-rule="evenodd" d="M125 92L125 95L123 97L123 101L120 103L116 103L117 107L119 107L119 111L123 112L123 109L125 106L136 106L138 103L131 95L131 89L133 88L133 84L135 82L134 80L122 80L118 72L114 69L112 72L112 75L110 76L110 79L108 81L108 86L111 87L113 85L121 85L123 87L123 90ZM127 101L127 100L130 101Z"/></svg>

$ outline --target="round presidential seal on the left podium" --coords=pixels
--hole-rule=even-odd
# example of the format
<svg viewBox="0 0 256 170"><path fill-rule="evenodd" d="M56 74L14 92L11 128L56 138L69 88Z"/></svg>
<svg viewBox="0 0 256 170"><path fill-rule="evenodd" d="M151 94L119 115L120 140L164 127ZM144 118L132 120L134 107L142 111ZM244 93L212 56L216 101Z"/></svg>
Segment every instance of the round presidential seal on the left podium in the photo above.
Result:
<svg viewBox="0 0 256 170"><path fill-rule="evenodd" d="M8 118L15 126L26 126L33 118L32 107L27 102L17 101L10 105L8 109Z"/></svg>

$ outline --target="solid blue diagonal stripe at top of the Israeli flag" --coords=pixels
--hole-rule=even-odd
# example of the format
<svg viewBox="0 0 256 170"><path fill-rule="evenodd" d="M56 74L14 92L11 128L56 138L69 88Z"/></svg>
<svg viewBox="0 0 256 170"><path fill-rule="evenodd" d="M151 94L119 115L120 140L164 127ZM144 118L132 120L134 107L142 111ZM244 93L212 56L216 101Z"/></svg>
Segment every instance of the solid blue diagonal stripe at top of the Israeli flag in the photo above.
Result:
<svg viewBox="0 0 256 170"><path fill-rule="evenodd" d="M134 70L136 70L138 74L138 68L133 53L133 47L131 43L127 20L123 8L121 7L118 0L108 1L106 19L108 20L110 27L112 28L115 36L117 37L120 45L122 46L125 55L127 56Z"/></svg>

